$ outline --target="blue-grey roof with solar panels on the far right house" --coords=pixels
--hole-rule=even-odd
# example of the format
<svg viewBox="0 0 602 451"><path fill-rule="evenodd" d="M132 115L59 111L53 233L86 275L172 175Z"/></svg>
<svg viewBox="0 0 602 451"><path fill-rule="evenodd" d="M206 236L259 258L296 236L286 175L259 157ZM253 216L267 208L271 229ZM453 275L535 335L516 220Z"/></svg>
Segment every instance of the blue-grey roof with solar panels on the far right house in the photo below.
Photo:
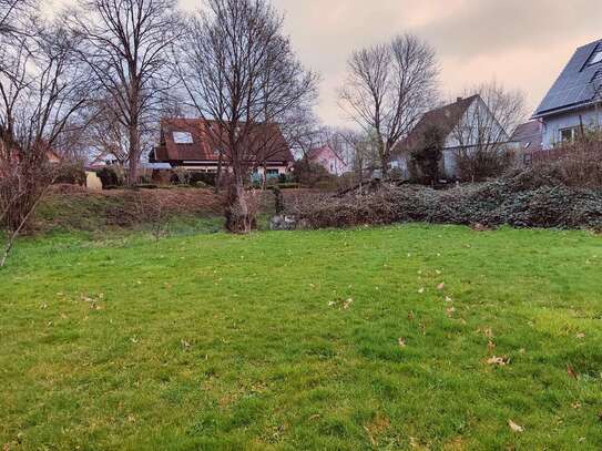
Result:
<svg viewBox="0 0 602 451"><path fill-rule="evenodd" d="M588 105L595 94L595 80L602 82L602 62L590 64L602 50L602 40L580 47L554 82L533 117Z"/></svg>

